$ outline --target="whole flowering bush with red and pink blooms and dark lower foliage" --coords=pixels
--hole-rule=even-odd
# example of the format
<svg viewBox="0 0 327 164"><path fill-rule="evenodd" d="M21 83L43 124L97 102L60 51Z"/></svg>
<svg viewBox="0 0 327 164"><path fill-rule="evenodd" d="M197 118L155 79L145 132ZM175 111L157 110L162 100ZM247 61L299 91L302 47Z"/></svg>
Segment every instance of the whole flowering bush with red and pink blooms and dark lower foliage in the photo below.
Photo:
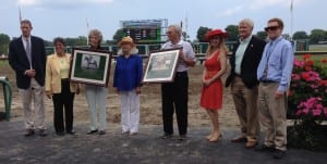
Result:
<svg viewBox="0 0 327 164"><path fill-rule="evenodd" d="M327 59L314 61L311 54L304 54L303 60L294 60L288 99L288 117L295 118L289 144L326 147L326 130L322 130L320 123L327 118Z"/></svg>

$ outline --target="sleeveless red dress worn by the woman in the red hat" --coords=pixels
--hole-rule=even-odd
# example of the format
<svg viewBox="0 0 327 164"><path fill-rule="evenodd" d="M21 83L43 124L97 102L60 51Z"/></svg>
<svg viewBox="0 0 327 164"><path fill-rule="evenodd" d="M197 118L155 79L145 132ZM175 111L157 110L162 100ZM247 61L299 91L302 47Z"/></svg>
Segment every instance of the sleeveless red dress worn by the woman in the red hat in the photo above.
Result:
<svg viewBox="0 0 327 164"><path fill-rule="evenodd" d="M219 51L216 51L205 61L206 75L205 79L215 76L221 68L219 62ZM206 110L220 110L222 106L222 84L218 78L209 86L203 86L201 94L201 106Z"/></svg>

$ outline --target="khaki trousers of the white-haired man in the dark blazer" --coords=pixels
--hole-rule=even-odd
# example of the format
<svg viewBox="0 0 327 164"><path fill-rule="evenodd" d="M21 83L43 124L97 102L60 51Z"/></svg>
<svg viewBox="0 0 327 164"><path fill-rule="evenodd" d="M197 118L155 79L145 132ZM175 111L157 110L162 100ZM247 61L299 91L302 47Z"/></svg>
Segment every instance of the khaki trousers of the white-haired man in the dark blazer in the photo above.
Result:
<svg viewBox="0 0 327 164"><path fill-rule="evenodd" d="M245 87L242 78L235 77L231 84L231 92L235 110L241 124L242 136L247 140L256 141L259 134L259 122L257 111L258 89Z"/></svg>

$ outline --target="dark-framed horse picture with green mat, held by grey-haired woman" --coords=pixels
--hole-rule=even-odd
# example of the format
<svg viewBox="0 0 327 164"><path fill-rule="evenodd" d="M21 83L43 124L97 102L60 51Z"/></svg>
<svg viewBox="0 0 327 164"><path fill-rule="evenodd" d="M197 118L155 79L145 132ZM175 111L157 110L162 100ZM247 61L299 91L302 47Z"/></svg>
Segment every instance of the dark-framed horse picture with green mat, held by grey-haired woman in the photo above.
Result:
<svg viewBox="0 0 327 164"><path fill-rule="evenodd" d="M74 48L70 80L107 87L111 60L112 54L109 51Z"/></svg>

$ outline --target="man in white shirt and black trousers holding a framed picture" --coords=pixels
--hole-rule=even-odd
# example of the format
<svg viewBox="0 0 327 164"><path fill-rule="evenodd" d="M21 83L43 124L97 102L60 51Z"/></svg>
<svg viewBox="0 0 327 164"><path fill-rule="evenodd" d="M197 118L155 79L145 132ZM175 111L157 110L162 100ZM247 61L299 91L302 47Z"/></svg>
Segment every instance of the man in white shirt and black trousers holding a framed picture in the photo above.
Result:
<svg viewBox="0 0 327 164"><path fill-rule="evenodd" d="M173 111L175 110L180 140L186 139L187 134L187 101L189 101L189 76L187 70L195 65L195 53L190 42L181 40L182 29L178 25L168 27L169 41L162 49L182 48L180 51L177 73L173 83L161 85L162 98L162 138L171 138L173 134Z"/></svg>

